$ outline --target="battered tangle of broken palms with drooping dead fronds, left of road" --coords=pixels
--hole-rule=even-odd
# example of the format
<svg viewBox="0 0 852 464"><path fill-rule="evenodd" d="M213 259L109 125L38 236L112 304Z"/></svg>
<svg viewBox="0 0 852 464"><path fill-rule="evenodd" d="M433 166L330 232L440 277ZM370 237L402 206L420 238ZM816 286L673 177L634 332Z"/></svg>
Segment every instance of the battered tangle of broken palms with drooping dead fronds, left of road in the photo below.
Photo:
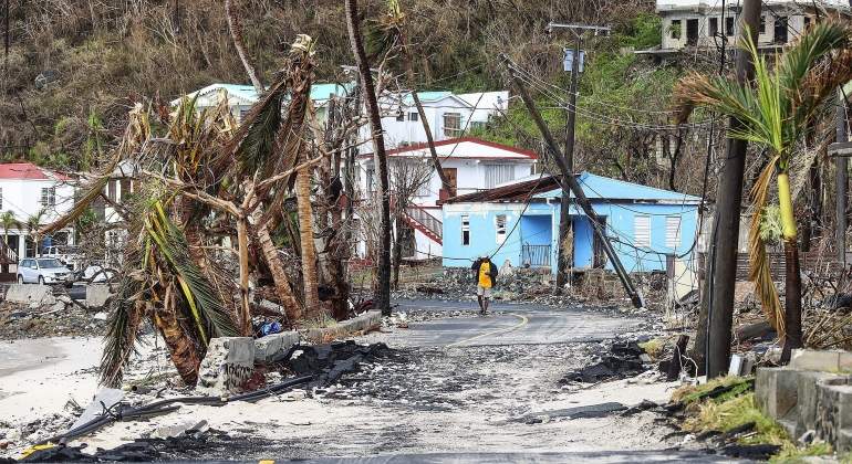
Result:
<svg viewBox="0 0 852 464"><path fill-rule="evenodd" d="M211 338L252 334L252 291L262 282L273 283L264 295L272 295L291 326L322 312L309 250L310 179L328 155L312 156L308 143L312 48L310 38L299 36L276 82L239 126L227 98L205 110L187 98L162 125L152 124L152 112L137 105L124 138L81 201L40 231L49 233L82 214L118 162L135 167L134 194L124 204L123 278L111 307L102 383L121 382L148 320L184 382L195 384ZM283 204L292 193L300 205L303 262L301 274L288 275L273 236L290 221ZM300 298L295 289L302 282Z"/></svg>

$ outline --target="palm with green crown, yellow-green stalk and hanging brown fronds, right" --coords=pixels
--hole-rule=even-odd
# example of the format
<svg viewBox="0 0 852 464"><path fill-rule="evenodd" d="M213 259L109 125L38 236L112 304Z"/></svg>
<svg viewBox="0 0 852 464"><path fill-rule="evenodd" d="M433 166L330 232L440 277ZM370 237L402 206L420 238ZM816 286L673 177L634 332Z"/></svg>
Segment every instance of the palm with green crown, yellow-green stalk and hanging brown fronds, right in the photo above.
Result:
<svg viewBox="0 0 852 464"><path fill-rule="evenodd" d="M750 278L756 284L763 312L783 338L782 361L802 346L801 277L793 199L790 192L790 161L797 141L813 126L822 104L839 85L852 80L852 31L835 22L812 27L776 57L770 68L758 54L750 34L744 46L755 63L754 88L716 75L692 74L683 78L675 97L685 120L695 106L731 116L741 127L729 129L730 137L748 140L766 149L768 162L751 189L755 218L749 231ZM772 283L767 256L767 201L772 178L778 187L786 268L786 312ZM761 233L762 232L762 233Z"/></svg>

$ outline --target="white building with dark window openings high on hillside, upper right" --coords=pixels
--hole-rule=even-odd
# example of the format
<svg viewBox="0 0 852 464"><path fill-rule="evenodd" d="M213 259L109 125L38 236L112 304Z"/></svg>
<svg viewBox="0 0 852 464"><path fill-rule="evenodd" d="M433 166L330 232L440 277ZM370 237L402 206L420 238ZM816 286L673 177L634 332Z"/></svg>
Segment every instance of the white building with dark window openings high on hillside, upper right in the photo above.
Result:
<svg viewBox="0 0 852 464"><path fill-rule="evenodd" d="M849 2L843 0L762 3L757 45L770 51L789 43L825 12L849 12ZM716 0L657 0L656 10L663 22L662 46L637 53L665 55L689 46L716 48L723 39L732 48L739 33L739 2L727 2L723 11Z"/></svg>

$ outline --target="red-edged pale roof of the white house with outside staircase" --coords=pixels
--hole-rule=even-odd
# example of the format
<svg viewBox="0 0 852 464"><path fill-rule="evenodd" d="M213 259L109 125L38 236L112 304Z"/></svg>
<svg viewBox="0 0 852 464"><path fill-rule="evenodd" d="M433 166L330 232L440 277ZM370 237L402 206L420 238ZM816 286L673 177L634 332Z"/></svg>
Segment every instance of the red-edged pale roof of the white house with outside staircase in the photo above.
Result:
<svg viewBox="0 0 852 464"><path fill-rule="evenodd" d="M441 159L538 159L532 150L511 147L509 145L495 144L476 137L449 138L435 143L435 151ZM429 157L429 144L414 144L407 147L387 150L388 156L422 158ZM373 154L363 154L361 158L370 158Z"/></svg>

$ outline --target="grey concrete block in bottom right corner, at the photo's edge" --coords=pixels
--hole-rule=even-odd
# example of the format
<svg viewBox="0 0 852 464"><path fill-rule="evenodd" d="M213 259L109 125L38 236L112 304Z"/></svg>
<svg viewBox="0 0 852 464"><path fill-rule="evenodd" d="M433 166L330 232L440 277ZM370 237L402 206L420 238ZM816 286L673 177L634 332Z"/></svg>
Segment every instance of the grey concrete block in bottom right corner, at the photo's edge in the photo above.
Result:
<svg viewBox="0 0 852 464"><path fill-rule="evenodd" d="M838 453L852 450L849 434L852 430L852 386L849 379L829 380L818 387L817 398L817 436L830 443Z"/></svg>

